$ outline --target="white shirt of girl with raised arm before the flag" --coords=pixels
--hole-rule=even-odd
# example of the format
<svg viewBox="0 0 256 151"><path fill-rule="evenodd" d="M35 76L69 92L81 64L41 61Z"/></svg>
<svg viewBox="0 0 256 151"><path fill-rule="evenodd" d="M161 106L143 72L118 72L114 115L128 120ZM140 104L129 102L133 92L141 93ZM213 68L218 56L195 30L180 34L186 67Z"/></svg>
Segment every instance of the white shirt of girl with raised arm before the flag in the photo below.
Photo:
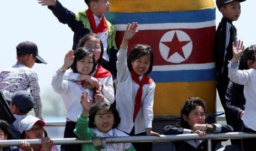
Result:
<svg viewBox="0 0 256 151"><path fill-rule="evenodd" d="M146 128L152 128L155 83L143 85L141 108L135 123L133 123L135 96L139 89L139 84L133 81L127 67L127 49L118 51L117 60L116 103L117 111L121 118L121 123L117 128L130 133L134 126L135 134L145 132Z"/></svg>

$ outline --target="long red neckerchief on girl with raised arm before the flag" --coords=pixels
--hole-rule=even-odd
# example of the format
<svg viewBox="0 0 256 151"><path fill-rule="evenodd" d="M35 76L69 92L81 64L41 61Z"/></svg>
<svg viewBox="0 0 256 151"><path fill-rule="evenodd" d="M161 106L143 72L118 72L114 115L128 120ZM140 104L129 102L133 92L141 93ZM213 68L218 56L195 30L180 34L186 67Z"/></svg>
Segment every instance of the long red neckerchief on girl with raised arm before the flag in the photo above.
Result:
<svg viewBox="0 0 256 151"><path fill-rule="evenodd" d="M143 92L143 85L144 84L149 84L153 82L153 80L148 77L148 75L144 74L143 78L141 79L141 82L139 80L139 76L137 73L135 73L133 70L130 72L132 75L132 79L134 80L135 83L139 84L139 89L137 91L137 94L135 96L135 107L134 107L134 113L133 113L133 123L135 122L135 119L139 113L140 107L141 107L141 97L142 97L142 92Z"/></svg>

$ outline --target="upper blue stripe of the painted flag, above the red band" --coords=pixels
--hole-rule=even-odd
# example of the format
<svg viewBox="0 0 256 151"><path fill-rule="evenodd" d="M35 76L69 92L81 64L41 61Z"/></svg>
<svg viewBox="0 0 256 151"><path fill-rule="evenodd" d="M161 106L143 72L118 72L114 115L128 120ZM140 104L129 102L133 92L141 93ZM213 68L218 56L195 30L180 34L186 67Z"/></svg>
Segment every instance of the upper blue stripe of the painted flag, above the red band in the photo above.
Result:
<svg viewBox="0 0 256 151"><path fill-rule="evenodd" d="M168 11L151 13L107 13L106 19L112 24L128 24L137 21L138 24L189 23L215 20L215 8L196 11Z"/></svg>

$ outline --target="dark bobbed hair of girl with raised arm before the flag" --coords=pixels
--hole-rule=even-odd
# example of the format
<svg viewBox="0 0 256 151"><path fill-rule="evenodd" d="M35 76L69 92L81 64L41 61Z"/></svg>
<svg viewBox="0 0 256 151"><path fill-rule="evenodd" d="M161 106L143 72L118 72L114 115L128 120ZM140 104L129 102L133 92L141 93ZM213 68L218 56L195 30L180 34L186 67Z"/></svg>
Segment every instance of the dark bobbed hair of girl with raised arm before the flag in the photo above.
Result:
<svg viewBox="0 0 256 151"><path fill-rule="evenodd" d="M133 68L132 62L145 55L150 55L150 66L149 66L149 70L146 72L146 74L149 74L153 68L154 54L150 45L146 45L146 44L137 44L132 49L132 51L130 51L130 54L127 59L127 66L129 71L132 71L132 68Z"/></svg>

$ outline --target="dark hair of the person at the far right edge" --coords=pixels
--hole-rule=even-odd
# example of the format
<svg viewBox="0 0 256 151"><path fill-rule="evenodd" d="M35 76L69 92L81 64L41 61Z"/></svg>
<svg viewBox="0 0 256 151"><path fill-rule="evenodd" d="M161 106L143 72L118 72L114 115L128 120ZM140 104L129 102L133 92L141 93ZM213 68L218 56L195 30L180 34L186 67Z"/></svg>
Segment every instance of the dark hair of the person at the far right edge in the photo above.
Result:
<svg viewBox="0 0 256 151"><path fill-rule="evenodd" d="M248 69L247 61L252 60L252 62L255 62L255 56L254 52L256 51L256 45L251 45L250 47L247 47L244 51L242 56L239 60L239 69Z"/></svg>

